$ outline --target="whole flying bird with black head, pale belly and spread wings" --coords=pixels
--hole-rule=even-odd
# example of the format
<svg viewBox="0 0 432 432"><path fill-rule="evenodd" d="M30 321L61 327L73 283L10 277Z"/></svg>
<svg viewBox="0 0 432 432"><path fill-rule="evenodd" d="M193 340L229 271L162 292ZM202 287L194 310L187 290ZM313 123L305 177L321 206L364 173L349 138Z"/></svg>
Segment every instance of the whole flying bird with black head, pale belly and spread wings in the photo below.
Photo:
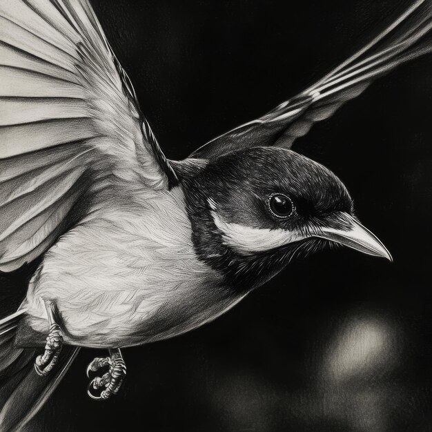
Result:
<svg viewBox="0 0 432 432"><path fill-rule="evenodd" d="M107 400L121 350L215 320L299 254L391 260L342 181L292 146L431 52L431 16L416 0L300 94L174 161L90 1L1 0L0 271L38 264L0 320L0 430L32 419L80 348L108 351L86 371Z"/></svg>

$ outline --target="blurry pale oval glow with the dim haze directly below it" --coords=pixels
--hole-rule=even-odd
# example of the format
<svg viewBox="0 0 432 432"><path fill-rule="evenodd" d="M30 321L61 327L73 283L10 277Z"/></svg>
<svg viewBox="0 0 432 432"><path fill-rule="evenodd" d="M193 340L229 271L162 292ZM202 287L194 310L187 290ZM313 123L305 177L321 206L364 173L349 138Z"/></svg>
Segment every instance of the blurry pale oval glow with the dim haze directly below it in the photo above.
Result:
<svg viewBox="0 0 432 432"><path fill-rule="evenodd" d="M343 322L317 375L326 417L354 431L389 430L398 403L389 378L401 359L402 333L389 317L354 314Z"/></svg>

